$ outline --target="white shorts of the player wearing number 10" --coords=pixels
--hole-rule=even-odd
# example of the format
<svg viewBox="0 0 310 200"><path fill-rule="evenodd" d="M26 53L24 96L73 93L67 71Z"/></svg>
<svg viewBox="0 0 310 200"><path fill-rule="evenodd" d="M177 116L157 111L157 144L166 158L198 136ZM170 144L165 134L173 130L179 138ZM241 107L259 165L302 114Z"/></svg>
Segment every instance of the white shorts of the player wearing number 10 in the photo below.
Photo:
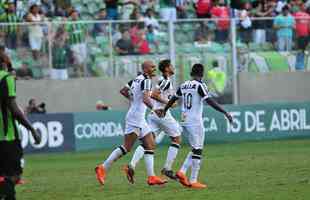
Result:
<svg viewBox="0 0 310 200"><path fill-rule="evenodd" d="M205 141L205 132L203 125L183 126L184 131L188 133L188 141L193 149L203 149Z"/></svg>

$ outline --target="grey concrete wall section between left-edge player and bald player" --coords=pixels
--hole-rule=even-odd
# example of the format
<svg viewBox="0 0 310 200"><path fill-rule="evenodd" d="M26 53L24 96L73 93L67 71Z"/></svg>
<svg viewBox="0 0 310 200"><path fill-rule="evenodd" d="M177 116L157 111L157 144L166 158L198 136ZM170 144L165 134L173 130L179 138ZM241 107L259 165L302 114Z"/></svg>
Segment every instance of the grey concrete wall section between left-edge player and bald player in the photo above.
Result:
<svg viewBox="0 0 310 200"><path fill-rule="evenodd" d="M95 111L97 100L103 100L112 109L122 109L128 107L128 102L119 90L127 81L112 78L17 81L17 100L24 108L34 97L38 103L46 103L48 112Z"/></svg>

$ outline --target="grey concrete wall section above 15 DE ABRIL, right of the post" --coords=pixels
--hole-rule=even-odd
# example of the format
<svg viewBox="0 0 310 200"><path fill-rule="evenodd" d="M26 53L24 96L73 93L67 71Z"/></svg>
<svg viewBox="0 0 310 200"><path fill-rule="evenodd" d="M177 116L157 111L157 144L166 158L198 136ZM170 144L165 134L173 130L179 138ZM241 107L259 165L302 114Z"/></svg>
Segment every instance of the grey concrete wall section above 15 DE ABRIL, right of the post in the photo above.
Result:
<svg viewBox="0 0 310 200"><path fill-rule="evenodd" d="M310 72L242 72L238 84L241 104L310 100Z"/></svg>

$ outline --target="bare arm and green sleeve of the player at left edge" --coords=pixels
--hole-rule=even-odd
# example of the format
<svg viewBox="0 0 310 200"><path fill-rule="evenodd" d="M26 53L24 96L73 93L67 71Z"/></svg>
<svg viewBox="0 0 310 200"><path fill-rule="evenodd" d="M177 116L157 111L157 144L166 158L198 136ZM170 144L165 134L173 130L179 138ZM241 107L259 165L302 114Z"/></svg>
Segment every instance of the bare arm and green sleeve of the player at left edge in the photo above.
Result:
<svg viewBox="0 0 310 200"><path fill-rule="evenodd" d="M28 130L31 131L31 134L35 140L36 144L39 144L41 141L40 136L37 134L36 130L33 128L27 117L24 115L24 113L20 110L16 103L16 91L15 91L15 80L14 77L9 76L7 77L7 88L8 88L8 106L9 109L14 116L14 118L17 119L17 121L22 124L24 127L26 127Z"/></svg>

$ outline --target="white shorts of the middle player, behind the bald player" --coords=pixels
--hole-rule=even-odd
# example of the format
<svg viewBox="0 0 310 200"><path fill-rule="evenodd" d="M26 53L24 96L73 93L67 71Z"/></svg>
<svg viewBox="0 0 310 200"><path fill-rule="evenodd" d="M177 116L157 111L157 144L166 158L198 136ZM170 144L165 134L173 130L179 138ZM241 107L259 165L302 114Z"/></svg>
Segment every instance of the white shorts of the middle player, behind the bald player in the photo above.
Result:
<svg viewBox="0 0 310 200"><path fill-rule="evenodd" d="M170 137L181 135L182 128L170 113L167 113L164 118L160 118L155 113L151 112L148 115L147 120L152 132L154 133L161 130Z"/></svg>

